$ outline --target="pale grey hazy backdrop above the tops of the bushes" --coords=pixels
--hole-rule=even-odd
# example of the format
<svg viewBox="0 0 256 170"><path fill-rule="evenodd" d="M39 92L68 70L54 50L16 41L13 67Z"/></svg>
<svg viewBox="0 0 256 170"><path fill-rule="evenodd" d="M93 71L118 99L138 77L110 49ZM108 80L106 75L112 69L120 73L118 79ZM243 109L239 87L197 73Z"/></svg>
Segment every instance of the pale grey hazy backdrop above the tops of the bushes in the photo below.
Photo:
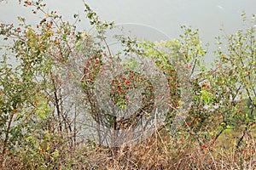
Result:
<svg viewBox="0 0 256 170"><path fill-rule="evenodd" d="M80 14L81 19L86 20L82 0L44 2L49 10L62 14L64 20L73 20L73 14ZM202 41L211 44L215 42L214 37L220 35L219 28L222 25L226 32L235 32L241 28L243 11L248 17L256 13L256 0L86 0L85 3L102 20L114 21L116 24L151 26L171 38L178 37L181 25L199 28ZM30 9L19 5L18 0L0 2L0 22L17 24L18 15L32 24L36 24L39 17L38 14L32 14ZM89 28L88 22L79 23L79 29ZM154 35L148 35L152 36ZM209 53L207 58L213 59L212 55Z"/></svg>

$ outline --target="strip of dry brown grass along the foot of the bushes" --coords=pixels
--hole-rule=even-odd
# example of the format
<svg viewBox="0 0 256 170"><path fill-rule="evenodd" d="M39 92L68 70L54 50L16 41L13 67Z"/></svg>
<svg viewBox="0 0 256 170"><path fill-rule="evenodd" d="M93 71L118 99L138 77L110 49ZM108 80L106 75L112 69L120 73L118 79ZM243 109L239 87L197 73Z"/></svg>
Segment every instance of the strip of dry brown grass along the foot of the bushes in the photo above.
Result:
<svg viewBox="0 0 256 170"><path fill-rule="evenodd" d="M256 169L256 141L247 133L239 150L232 136L223 133L214 144L202 147L193 136L156 132L139 144L108 148L79 144L75 148L56 146L56 160L42 152L33 163L20 156L7 155L2 169ZM48 163L48 164L47 164ZM50 165L55 165L50 167Z"/></svg>

